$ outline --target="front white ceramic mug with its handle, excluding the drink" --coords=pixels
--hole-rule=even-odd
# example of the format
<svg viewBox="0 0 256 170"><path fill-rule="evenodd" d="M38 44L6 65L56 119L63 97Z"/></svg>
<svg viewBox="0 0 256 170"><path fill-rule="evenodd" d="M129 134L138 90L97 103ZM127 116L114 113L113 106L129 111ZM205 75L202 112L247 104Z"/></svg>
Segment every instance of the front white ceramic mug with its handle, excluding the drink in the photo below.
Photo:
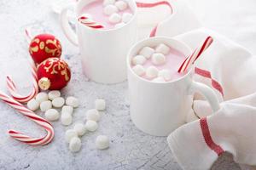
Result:
<svg viewBox="0 0 256 170"><path fill-rule="evenodd" d="M166 43L185 56L191 54L187 45L172 38L153 37L137 42L127 57L128 85L132 122L145 133L166 136L185 123L192 107L193 93L203 94L212 106L212 111L218 111L219 104L212 88L192 80L192 69L171 82L150 82L132 71L131 58L141 48L155 47L160 43Z"/></svg>

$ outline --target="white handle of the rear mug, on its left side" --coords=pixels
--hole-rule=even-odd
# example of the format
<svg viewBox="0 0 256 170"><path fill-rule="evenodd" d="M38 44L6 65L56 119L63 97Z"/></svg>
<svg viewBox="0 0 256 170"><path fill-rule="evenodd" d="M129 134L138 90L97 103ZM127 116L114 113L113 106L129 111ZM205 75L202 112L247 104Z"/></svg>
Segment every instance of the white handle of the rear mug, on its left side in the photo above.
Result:
<svg viewBox="0 0 256 170"><path fill-rule="evenodd" d="M67 11L70 8L70 5L67 5L67 7L61 9L61 28L64 32L67 39L73 43L75 46L79 46L78 37L75 31L71 28L69 25L69 20L67 17Z"/></svg>

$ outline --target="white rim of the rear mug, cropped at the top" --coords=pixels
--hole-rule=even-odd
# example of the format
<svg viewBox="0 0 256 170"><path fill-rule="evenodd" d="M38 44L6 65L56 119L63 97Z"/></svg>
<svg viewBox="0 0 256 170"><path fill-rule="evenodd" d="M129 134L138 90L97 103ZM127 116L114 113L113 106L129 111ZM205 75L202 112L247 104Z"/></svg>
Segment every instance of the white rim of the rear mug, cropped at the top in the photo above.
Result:
<svg viewBox="0 0 256 170"><path fill-rule="evenodd" d="M131 1L131 3L134 3L134 11L133 11L133 14L132 14L132 17L131 17L131 20L129 20L127 23L125 23L125 26L120 26L120 27L118 27L118 28L111 28L111 29L91 29L90 27L88 27L88 26L84 26L81 22L79 22L79 20L78 20L78 18L79 18L79 15L78 15L78 11L77 11L77 9L79 8L79 5L80 5L80 3L82 3L84 0L81 0L81 1L79 1L78 3L76 3L76 5L75 5L75 8L76 8L76 22L77 23L79 23L79 26L83 26L85 29L87 29L87 30L89 30L89 31L98 31L98 32L109 32L109 31L116 31L116 30L119 30L119 29L121 29L122 27L125 27L125 26L127 26L127 25L129 25L129 24L131 24L131 22L133 22L133 20L135 20L136 19L136 17L137 17L137 4L136 4L136 1L135 0L133 0L133 1ZM92 2L94 2L94 1L96 1L96 0L93 0L93 1L91 1L91 3ZM88 3L89 4L89 3ZM86 5L85 5L86 6ZM130 7L131 8L131 7Z"/></svg>

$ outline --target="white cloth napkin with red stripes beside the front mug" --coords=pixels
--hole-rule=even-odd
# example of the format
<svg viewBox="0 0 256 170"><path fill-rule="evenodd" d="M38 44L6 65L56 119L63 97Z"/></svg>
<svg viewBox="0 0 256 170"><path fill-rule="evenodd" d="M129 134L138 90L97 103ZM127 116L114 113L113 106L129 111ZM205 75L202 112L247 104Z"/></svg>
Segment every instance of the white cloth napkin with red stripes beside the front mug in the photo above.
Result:
<svg viewBox="0 0 256 170"><path fill-rule="evenodd" d="M214 89L221 102L221 109L212 114L207 101L195 95L189 123L167 138L172 153L184 169L209 169L224 151L238 163L256 165L256 57L203 28L184 3L170 3L174 14L159 24L156 36L177 38L192 49L213 37L211 47L196 62L195 81Z"/></svg>

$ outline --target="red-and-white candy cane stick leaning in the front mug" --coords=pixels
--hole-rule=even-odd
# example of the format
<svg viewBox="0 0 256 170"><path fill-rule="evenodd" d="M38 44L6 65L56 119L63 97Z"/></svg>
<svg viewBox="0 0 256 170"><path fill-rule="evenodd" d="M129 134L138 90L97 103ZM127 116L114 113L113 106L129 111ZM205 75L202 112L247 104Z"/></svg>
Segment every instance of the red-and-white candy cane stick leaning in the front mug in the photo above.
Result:
<svg viewBox="0 0 256 170"><path fill-rule="evenodd" d="M207 50L212 42L212 37L207 37L207 39L201 44L201 46L195 48L193 54L191 54L187 59L183 61L183 64L179 67L177 72L182 73L188 71L191 65L195 63L195 60L198 59L205 50Z"/></svg>

